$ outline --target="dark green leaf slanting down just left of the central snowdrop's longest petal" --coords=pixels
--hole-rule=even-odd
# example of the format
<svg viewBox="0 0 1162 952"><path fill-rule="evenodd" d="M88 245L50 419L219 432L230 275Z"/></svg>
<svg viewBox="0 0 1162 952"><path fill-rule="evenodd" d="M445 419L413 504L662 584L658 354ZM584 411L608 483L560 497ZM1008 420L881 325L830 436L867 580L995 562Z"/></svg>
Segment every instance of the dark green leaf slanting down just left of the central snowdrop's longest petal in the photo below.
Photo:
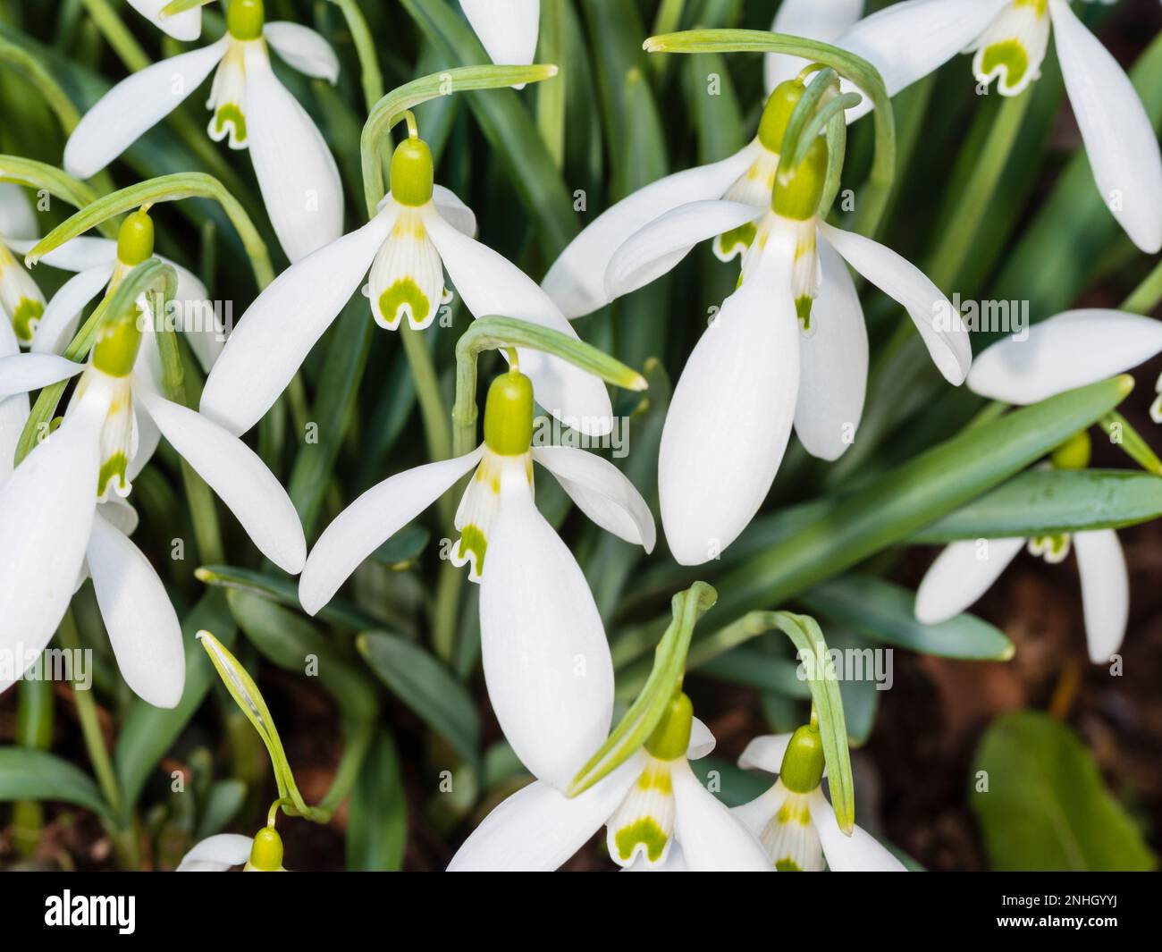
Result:
<svg viewBox="0 0 1162 952"><path fill-rule="evenodd" d="M468 763L480 758L480 718L467 688L418 645L386 631L356 642L371 670Z"/></svg>

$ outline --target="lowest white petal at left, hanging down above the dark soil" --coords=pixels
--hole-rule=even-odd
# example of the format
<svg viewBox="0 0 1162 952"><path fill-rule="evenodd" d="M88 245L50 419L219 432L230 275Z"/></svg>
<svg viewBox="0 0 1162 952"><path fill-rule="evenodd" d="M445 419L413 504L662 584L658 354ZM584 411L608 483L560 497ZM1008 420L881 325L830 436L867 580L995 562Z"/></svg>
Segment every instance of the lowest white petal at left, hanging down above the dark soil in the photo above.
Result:
<svg viewBox="0 0 1162 952"><path fill-rule="evenodd" d="M177 707L186 685L178 614L149 559L100 508L86 560L117 667L139 697L159 708Z"/></svg>

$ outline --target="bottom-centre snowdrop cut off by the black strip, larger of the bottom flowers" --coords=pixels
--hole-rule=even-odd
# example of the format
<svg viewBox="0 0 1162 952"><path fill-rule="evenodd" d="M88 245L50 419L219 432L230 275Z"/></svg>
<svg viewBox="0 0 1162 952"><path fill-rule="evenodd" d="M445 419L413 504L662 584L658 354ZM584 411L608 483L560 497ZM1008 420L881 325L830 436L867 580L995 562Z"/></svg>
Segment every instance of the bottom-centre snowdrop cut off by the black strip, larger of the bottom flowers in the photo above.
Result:
<svg viewBox="0 0 1162 952"><path fill-rule="evenodd" d="M449 872L555 869L602 825L609 856L623 868L668 868L681 847L690 869L769 871L758 840L690 768L713 745L680 693L644 747L584 793L571 800L538 779L512 794L473 831ZM574 763L586 759L581 751Z"/></svg>

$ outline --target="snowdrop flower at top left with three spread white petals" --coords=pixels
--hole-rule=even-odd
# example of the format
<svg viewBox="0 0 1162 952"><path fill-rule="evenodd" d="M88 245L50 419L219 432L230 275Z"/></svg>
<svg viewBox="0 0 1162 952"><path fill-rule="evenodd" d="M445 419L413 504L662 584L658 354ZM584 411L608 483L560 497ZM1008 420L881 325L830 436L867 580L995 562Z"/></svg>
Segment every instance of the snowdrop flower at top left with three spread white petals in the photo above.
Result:
<svg viewBox="0 0 1162 952"><path fill-rule="evenodd" d="M297 23L266 23L261 0L234 0L218 42L164 59L114 86L65 145L65 170L89 178L172 113L215 70L210 137L250 149L266 212L292 262L343 234L339 171L315 123L271 69L267 43L290 66L335 83L323 37Z"/></svg>

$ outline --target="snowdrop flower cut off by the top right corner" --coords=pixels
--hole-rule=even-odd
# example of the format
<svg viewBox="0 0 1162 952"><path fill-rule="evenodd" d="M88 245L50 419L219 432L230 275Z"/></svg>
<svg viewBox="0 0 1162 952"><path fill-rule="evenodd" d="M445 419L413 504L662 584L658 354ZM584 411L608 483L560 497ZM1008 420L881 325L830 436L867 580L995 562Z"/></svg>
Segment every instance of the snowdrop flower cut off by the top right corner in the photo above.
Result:
<svg viewBox="0 0 1162 952"><path fill-rule="evenodd" d="M1142 251L1162 249L1162 152L1133 84L1068 0L908 0L861 20L835 44L871 62L895 95L961 51L1002 95L1040 76L1056 33L1066 92L1102 199ZM870 108L865 103L851 115Z"/></svg>

